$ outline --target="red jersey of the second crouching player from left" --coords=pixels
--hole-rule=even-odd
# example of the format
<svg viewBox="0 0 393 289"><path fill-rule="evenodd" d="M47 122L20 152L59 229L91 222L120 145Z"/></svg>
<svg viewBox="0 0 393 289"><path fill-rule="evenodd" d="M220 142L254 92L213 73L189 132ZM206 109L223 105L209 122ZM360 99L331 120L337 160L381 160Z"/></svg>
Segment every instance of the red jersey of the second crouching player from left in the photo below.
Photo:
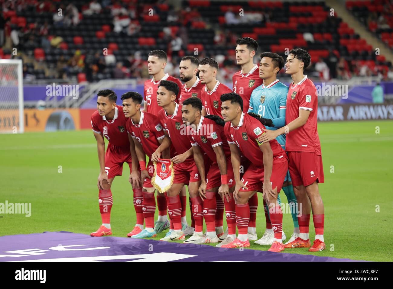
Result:
<svg viewBox="0 0 393 289"><path fill-rule="evenodd" d="M158 140L165 137L160 121L148 112L141 112L139 124L134 124L130 118L127 122L127 132L142 144L143 151L149 159L160 146Z"/></svg>

